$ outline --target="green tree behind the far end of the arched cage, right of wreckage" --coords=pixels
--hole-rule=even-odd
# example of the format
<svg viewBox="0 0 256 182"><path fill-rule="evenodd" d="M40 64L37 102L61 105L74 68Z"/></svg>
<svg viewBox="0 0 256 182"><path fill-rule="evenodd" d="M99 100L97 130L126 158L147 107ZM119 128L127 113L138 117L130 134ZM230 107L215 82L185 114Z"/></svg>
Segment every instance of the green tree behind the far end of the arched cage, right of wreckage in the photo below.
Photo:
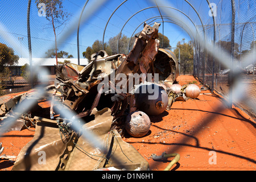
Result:
<svg viewBox="0 0 256 182"><path fill-rule="evenodd" d="M182 39L182 42L177 43L177 47L180 48L180 72L183 72L183 75L191 73L193 71L192 41L185 43L185 39ZM179 57L179 49L175 49L174 53L176 57Z"/></svg>

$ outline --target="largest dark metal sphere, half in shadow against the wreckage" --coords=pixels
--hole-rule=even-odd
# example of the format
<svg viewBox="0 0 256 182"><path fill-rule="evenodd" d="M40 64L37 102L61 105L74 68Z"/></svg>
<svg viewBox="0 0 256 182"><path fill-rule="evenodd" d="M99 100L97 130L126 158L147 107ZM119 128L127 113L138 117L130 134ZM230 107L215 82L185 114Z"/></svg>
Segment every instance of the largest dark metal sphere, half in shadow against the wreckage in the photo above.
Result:
<svg viewBox="0 0 256 182"><path fill-rule="evenodd" d="M147 115L158 115L166 110L168 95L162 86L144 84L135 90L135 105Z"/></svg>

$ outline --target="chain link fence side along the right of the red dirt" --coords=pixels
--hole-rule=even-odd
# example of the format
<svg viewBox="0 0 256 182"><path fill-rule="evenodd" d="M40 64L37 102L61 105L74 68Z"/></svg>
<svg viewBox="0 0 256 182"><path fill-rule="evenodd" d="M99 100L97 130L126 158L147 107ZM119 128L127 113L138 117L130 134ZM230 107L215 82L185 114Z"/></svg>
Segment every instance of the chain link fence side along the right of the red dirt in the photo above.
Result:
<svg viewBox="0 0 256 182"><path fill-rule="evenodd" d="M255 61L244 66L244 59L253 53L255 45L255 9L253 1L213 1L216 8L216 40L214 42L213 18L209 17L208 23L204 25L207 38L212 40L219 47L220 52L225 51L233 58L233 64L239 67L240 74L232 75L232 70L221 64L222 60L214 60L208 52L201 53L201 58L196 60L195 76L202 82L209 85L222 96L232 100L243 111L249 114L254 120L256 118L256 96L255 96ZM216 6L215 6L216 5ZM232 8L233 7L233 8ZM232 19L232 12L234 18ZM232 25L234 29L232 30ZM234 37L232 38L232 35ZM232 51L233 50L233 51ZM218 54L218 52L216 52ZM205 54L205 55L204 55ZM254 57L254 56L253 56ZM204 63L204 64L203 64ZM240 100L236 100L232 94L232 83L239 81L246 85Z"/></svg>

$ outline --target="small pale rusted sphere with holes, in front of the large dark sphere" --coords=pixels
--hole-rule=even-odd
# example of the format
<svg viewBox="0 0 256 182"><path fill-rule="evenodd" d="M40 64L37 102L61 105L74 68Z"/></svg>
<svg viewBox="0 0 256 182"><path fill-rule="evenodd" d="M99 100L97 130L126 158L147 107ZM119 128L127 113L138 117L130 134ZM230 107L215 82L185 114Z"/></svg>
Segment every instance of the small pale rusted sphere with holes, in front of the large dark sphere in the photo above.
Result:
<svg viewBox="0 0 256 182"><path fill-rule="evenodd" d="M150 118L142 111L134 111L126 117L125 130L133 137L143 137L150 130L150 126Z"/></svg>

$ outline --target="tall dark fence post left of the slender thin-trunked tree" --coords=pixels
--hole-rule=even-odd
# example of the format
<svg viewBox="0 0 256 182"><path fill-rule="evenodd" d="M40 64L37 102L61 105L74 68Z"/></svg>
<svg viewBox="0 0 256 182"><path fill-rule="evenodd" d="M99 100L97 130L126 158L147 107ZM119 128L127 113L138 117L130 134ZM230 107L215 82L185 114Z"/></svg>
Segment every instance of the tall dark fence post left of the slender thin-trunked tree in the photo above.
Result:
<svg viewBox="0 0 256 182"><path fill-rule="evenodd" d="M29 59L30 59L30 81L31 87L34 88L34 79L33 79L33 69L32 69L32 49L31 49L31 36L30 36L30 5L31 0L28 0L27 5L27 40L28 40L28 52L29 52Z"/></svg>

